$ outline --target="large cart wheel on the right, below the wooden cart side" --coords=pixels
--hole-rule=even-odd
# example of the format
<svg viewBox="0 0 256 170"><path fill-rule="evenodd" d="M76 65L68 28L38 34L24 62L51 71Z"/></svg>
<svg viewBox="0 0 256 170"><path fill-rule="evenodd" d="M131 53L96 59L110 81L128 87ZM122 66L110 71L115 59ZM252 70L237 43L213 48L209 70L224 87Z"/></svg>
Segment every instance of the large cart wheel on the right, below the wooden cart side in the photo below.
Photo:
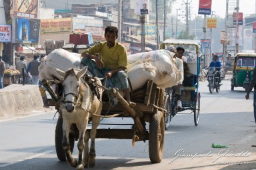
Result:
<svg viewBox="0 0 256 170"><path fill-rule="evenodd" d="M151 163L159 163L163 157L163 145L165 140L165 120L163 112L157 111L149 124L149 159Z"/></svg>

